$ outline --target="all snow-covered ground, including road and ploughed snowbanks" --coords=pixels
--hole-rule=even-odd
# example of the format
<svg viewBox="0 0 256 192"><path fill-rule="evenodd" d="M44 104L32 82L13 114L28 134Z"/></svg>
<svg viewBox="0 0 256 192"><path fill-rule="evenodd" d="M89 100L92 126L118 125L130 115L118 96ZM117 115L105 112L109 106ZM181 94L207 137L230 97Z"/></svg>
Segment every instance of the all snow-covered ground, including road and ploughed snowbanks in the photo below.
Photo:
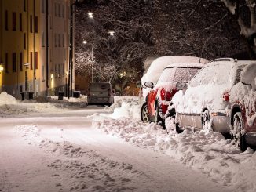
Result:
<svg viewBox="0 0 256 192"><path fill-rule="evenodd" d="M253 150L217 132L144 124L137 97L105 108L48 101L0 94L0 191L256 190Z"/></svg>

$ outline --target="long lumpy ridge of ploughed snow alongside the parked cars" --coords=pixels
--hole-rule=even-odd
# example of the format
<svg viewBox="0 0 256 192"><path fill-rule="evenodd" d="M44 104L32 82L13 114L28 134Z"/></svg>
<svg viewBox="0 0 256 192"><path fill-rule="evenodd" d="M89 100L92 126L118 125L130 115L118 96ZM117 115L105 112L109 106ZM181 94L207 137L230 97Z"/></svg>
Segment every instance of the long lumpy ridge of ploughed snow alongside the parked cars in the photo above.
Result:
<svg viewBox="0 0 256 192"><path fill-rule="evenodd" d="M115 111L121 108L127 108L128 111L131 106L123 104ZM256 153L250 148L241 153L239 147L231 140L226 140L221 133L185 130L181 134L167 134L161 126L145 124L131 118L129 113L115 119L112 115L106 117L97 114L93 116L93 125L128 143L168 154L218 182L236 187L237 191L256 190Z"/></svg>

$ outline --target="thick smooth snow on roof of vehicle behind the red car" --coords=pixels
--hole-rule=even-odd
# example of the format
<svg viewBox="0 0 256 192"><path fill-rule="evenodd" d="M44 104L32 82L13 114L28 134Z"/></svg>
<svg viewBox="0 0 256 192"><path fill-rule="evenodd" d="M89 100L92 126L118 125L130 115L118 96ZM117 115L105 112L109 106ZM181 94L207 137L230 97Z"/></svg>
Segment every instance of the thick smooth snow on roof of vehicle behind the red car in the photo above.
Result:
<svg viewBox="0 0 256 192"><path fill-rule="evenodd" d="M208 63L209 61L196 56L161 56L155 59L148 72L141 78L142 84L144 82L153 82L154 84L160 77L163 69L172 63Z"/></svg>

